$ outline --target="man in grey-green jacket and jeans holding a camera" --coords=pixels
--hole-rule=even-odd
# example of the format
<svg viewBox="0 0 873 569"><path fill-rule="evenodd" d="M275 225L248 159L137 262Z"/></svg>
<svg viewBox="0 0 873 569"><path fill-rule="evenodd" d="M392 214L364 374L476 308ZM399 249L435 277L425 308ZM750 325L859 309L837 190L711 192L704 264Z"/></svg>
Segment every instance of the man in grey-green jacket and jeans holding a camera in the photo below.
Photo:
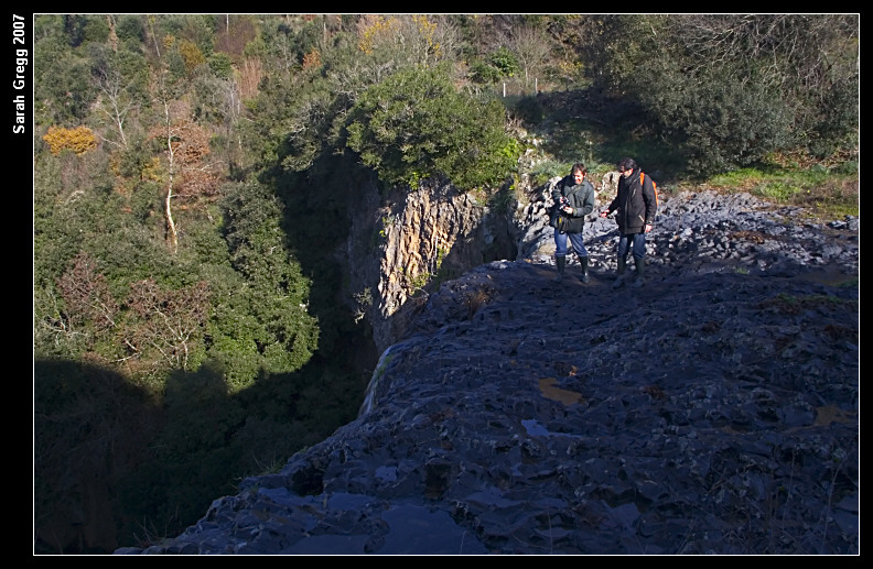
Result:
<svg viewBox="0 0 873 569"><path fill-rule="evenodd" d="M551 189L556 211L550 225L554 228L554 265L558 267L556 282L563 281L567 266L567 241L570 241L582 266L580 278L588 284L591 281L588 266L588 250L582 240L585 216L594 211L594 186L585 179L588 168L582 163L573 164L570 175L564 176Z"/></svg>

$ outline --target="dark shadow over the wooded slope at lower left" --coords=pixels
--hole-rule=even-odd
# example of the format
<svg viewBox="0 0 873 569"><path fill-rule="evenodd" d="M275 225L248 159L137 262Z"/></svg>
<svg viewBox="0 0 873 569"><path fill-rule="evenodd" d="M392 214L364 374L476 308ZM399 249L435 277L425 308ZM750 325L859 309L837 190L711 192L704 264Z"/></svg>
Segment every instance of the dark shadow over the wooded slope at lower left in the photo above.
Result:
<svg viewBox="0 0 873 569"><path fill-rule="evenodd" d="M100 365L34 361L34 554L111 554L181 534L242 478L352 422L367 380L315 357L230 395L206 363L174 372L157 402Z"/></svg>

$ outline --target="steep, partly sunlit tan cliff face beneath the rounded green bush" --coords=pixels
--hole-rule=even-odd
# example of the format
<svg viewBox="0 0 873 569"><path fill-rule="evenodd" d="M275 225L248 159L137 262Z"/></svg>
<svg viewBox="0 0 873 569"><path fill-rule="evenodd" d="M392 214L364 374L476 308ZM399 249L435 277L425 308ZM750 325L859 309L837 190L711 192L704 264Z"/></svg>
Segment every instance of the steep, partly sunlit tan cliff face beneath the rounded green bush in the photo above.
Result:
<svg viewBox="0 0 873 569"><path fill-rule="evenodd" d="M348 297L379 352L402 338L425 285L495 259L515 258L508 216L451 184L430 180L387 196L363 187L347 241Z"/></svg>

